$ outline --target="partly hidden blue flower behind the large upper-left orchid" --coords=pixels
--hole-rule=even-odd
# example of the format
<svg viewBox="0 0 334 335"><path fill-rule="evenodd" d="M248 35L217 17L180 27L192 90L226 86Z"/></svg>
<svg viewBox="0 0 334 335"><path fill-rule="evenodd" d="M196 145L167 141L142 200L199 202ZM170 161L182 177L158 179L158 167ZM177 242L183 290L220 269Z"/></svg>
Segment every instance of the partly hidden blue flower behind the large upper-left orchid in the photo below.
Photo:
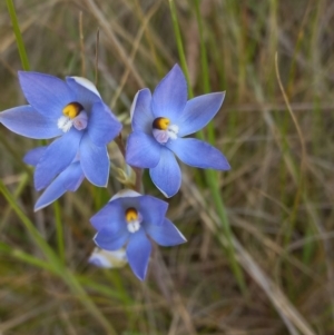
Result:
<svg viewBox="0 0 334 335"><path fill-rule="evenodd" d="M48 147L30 150L23 161L37 166ZM66 191L76 191L85 179L85 174L78 157L46 188L35 205L35 211L47 207L60 198Z"/></svg>

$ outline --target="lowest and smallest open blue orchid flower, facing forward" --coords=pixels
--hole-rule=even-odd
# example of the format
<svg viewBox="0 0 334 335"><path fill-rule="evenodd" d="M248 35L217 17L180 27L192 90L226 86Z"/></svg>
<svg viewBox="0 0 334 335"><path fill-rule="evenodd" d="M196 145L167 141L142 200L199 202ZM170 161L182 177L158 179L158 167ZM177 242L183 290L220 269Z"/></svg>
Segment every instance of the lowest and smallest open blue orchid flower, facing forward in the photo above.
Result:
<svg viewBox="0 0 334 335"><path fill-rule="evenodd" d="M98 230L94 240L105 250L118 250L127 244L126 253L135 275L144 280L151 242L161 246L175 246L186 239L174 224L165 217L168 204L134 190L122 190L91 219Z"/></svg>

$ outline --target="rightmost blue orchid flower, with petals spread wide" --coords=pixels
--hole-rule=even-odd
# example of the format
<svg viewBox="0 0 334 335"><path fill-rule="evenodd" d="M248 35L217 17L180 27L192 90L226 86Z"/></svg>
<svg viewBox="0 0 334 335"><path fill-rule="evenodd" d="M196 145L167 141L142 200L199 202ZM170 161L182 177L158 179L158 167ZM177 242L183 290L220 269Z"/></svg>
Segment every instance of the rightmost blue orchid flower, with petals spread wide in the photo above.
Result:
<svg viewBox="0 0 334 335"><path fill-rule="evenodd" d="M127 141L127 164L149 168L156 187L166 196L180 188L183 162L198 167L228 170L224 155L213 146L184 138L205 127L219 110L225 92L204 95L187 101L187 82L178 65L155 89L137 92L131 107L132 132Z"/></svg>

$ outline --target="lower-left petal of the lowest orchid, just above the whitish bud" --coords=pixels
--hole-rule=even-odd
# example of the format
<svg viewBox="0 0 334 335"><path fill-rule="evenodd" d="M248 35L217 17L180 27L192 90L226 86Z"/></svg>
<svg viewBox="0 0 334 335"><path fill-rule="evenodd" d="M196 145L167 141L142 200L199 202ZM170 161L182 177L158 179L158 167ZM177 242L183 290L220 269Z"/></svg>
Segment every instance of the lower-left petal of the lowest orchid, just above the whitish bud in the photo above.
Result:
<svg viewBox="0 0 334 335"><path fill-rule="evenodd" d="M112 229L102 228L96 234L94 242L101 249L114 252L118 250L125 245L129 238L129 235L130 233L126 228L117 231L116 234Z"/></svg>

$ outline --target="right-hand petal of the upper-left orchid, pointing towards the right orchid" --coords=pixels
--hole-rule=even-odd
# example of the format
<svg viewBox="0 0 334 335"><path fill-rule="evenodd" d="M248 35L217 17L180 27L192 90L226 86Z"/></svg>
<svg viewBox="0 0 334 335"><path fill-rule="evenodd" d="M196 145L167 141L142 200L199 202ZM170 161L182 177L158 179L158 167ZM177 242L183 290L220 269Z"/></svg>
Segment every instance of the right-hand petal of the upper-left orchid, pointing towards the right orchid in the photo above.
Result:
<svg viewBox="0 0 334 335"><path fill-rule="evenodd" d="M88 135L91 141L98 147L106 146L120 130L121 124L111 110L102 101L94 104L88 121Z"/></svg>

